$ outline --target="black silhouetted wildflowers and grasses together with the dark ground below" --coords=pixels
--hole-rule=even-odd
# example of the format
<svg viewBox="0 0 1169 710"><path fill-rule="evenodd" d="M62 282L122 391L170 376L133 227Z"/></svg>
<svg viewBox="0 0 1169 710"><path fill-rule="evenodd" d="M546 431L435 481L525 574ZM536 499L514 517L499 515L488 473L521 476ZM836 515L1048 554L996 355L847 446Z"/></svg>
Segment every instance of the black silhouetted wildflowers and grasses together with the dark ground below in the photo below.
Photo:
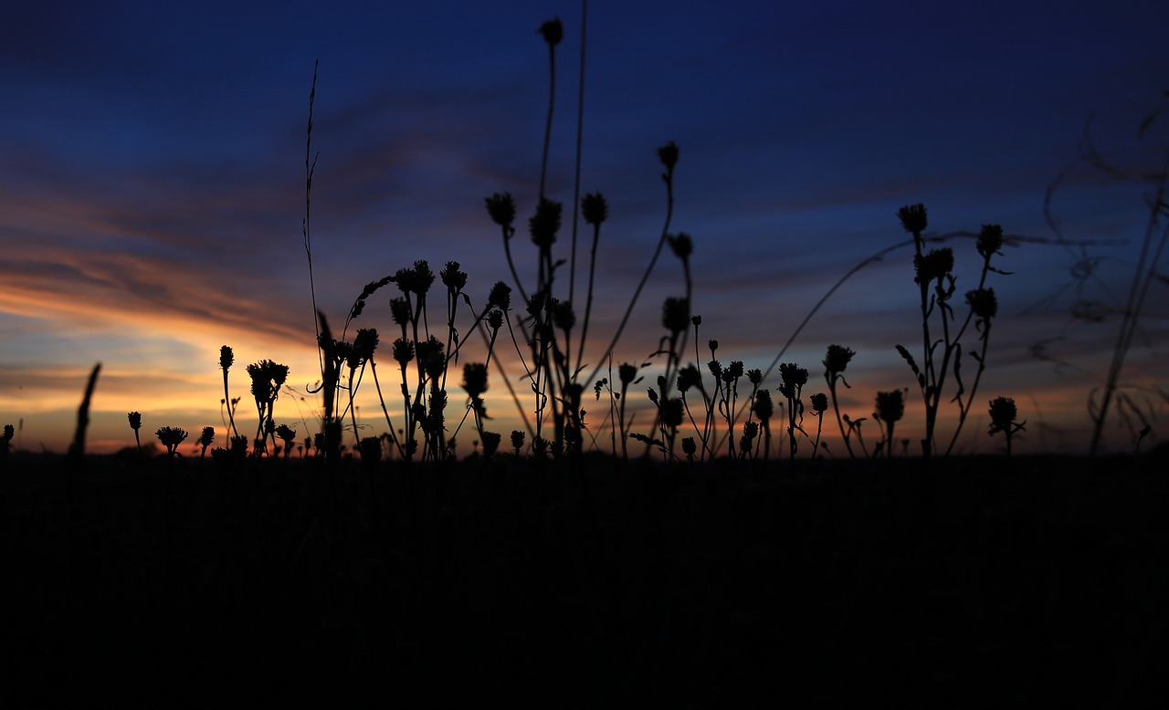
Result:
<svg viewBox="0 0 1169 710"><path fill-rule="evenodd" d="M551 21L539 34L554 97L562 28ZM134 411L132 447L87 455L99 368L68 457L9 451L7 426L0 708L1160 706L1169 697L1163 447L1011 457L1026 422L996 396L988 433L1008 455L953 451L988 402L978 384L998 318L990 283L1009 276L1001 249L1025 238L996 224L933 235L926 208L906 206L897 216L912 238L860 262L812 308L793 340L845 279L913 249L922 339L895 346L909 387L878 392L871 419L841 409L856 355L844 346L826 349L822 391L805 391L809 370L781 362L793 340L765 370L699 339L696 246L671 231L673 142L657 151L660 236L603 350L586 341L608 203L575 186L565 224L568 210L545 194L547 140L527 223L534 278L512 258L517 201L494 193L485 207L510 284L476 299L457 262L437 274L415 262L369 281L331 328L312 284L314 90L316 78L304 246L319 419L302 420L299 434L278 423L288 367L262 360L245 366L256 405L248 436L223 346L224 446L210 426L191 437L152 423L165 447L153 455ZM552 116L549 97L549 126ZM1157 409L1120 381L1164 244L1165 173L1154 182L1141 262L1153 266L1134 285L1093 399L1093 452L1111 402L1134 452ZM953 272L966 257L945 245L955 241L973 242L982 264L964 294ZM683 285L662 305L658 347L617 363L666 246ZM378 330L354 321L393 287L393 340L379 350ZM461 362L466 342L482 342L482 362ZM520 363L518 382L499 364L505 353ZM489 429L491 368L523 417L506 440ZM775 370L773 398L763 385ZM385 418L379 436L355 413L366 375ZM449 395L459 375L462 412ZM635 425L627 405L642 392L650 406ZM926 426L911 443L897 432L916 402ZM938 432L946 406L956 427ZM473 441L472 455L456 454L456 436ZM907 455L911 444L920 458Z"/></svg>

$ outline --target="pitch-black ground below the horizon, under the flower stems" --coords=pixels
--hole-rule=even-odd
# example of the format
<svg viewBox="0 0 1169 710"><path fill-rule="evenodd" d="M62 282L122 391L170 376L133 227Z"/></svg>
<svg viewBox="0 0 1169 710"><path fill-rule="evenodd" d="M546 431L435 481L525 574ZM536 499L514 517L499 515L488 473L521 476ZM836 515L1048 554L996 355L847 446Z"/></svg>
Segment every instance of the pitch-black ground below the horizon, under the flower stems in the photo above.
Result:
<svg viewBox="0 0 1169 710"><path fill-rule="evenodd" d="M1162 708L1165 464L13 455L0 708Z"/></svg>

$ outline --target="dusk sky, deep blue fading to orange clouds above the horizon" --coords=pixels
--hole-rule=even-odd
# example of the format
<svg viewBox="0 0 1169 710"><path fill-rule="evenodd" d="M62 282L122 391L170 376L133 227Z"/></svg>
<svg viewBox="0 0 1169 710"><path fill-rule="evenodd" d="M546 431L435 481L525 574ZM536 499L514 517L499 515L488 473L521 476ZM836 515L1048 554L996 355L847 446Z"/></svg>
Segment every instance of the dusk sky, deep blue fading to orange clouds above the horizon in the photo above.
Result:
<svg viewBox="0 0 1169 710"><path fill-rule="evenodd" d="M215 426L222 441L223 344L235 351L233 396L244 397L247 426L256 413L245 363L288 364L302 394L319 380L302 232L314 64L312 285L331 321L344 321L365 284L416 259L435 271L459 262L479 302L510 281L484 209L497 192L517 200L517 266L533 279L526 220L549 93L537 28L552 18L565 39L547 194L568 210L580 2L7 8L0 419L18 425L16 445L65 448L98 362L91 451L133 443L129 411L143 413L144 438L164 425L193 438ZM1144 141L1136 131L1165 103L1167 20L1156 1L589 2L580 190L603 193L609 218L587 364L601 360L658 243L666 195L656 149L675 141L670 231L694 242L704 361L705 341L718 339L725 362L767 369L835 283L907 238L898 208L924 203L929 235L994 223L1019 237L997 262L1011 273L991 274L999 312L959 448L1002 450L977 403L1009 396L1028 422L1017 450L1084 451L1149 216L1149 185L1125 178L1160 169L1169 142L1163 123ZM1081 159L1088 146L1114 174ZM970 239L948 244L961 294L976 285L980 258ZM1162 417L1150 420L1151 441L1165 436L1169 344L1163 260L1156 271L1121 377L1132 402ZM683 288L667 252L614 363L651 361L663 299ZM379 293L353 327L376 327L388 350L396 288ZM829 343L857 353L842 408L871 416L876 391L911 388L898 430L920 436L920 394L894 349L921 349L912 249L845 279L783 351L810 370L808 394L825 389ZM469 343L465 359L482 353ZM521 374L514 353L506 367ZM776 384L772 374L763 387ZM465 396L449 389L458 411ZM361 423L376 434L385 423L371 396L364 384ZM637 397L630 406L645 405ZM286 392L276 419L304 432L318 406ZM518 426L498 380L489 412L489 429ZM950 427L953 413L943 406ZM1111 417L1109 450L1132 450L1130 429ZM470 438L458 434L461 452Z"/></svg>

